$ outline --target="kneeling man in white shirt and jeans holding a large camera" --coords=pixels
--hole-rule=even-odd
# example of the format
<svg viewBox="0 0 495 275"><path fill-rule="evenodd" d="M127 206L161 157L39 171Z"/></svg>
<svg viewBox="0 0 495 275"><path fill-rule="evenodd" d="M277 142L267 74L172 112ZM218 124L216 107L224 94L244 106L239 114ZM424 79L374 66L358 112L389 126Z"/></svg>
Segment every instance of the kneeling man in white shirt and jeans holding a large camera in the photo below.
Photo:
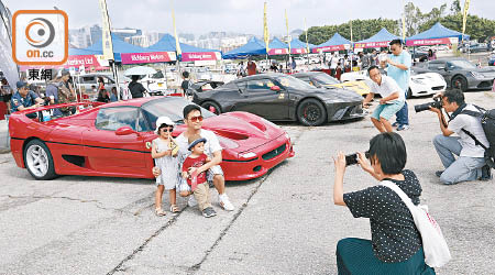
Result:
<svg viewBox="0 0 495 275"><path fill-rule="evenodd" d="M480 110L464 102L464 95L459 89L447 90L441 97L446 112L452 112L447 123L441 109L430 107L430 111L438 114L442 134L435 136L433 145L446 167L436 174L446 185L461 182L490 179L491 173L486 165L485 150L476 145L469 133L474 135L483 145L488 146L485 132L480 119L461 113L463 110L480 112ZM469 132L469 133L468 133ZM457 133L459 136L451 136ZM459 156L457 160L454 155Z"/></svg>

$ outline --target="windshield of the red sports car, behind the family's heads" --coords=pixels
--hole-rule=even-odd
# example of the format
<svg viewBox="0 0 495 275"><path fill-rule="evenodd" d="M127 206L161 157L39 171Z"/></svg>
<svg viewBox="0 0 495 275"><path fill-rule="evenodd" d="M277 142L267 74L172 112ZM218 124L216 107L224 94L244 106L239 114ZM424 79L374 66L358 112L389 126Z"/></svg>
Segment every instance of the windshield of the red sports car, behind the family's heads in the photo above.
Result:
<svg viewBox="0 0 495 275"><path fill-rule="evenodd" d="M169 97L148 101L143 105L142 109L154 129L160 117L168 117L176 124L184 124L183 109L190 102L184 98ZM217 116L204 108L201 108L201 114L205 119Z"/></svg>

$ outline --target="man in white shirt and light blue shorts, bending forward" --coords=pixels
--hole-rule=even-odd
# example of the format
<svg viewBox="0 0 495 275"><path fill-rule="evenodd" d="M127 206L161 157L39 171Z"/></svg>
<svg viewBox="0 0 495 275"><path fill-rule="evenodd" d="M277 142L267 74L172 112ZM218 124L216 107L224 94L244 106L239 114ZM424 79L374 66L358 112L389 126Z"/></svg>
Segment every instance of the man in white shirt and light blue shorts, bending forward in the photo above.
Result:
<svg viewBox="0 0 495 275"><path fill-rule="evenodd" d="M380 106L373 111L371 120L381 133L392 132L393 128L389 120L403 108L406 100L405 95L394 79L380 73L377 66L371 66L367 74L372 79L367 82L371 92L363 100L363 107L367 108L367 103L374 98L375 94L380 94L382 99Z"/></svg>

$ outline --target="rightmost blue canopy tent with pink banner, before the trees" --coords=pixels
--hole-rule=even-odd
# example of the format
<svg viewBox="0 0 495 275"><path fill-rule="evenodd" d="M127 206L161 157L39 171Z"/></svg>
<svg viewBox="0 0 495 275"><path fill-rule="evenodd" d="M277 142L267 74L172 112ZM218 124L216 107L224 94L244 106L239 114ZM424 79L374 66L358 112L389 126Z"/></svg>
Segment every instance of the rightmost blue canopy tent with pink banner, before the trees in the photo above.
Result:
<svg viewBox="0 0 495 275"><path fill-rule="evenodd" d="M437 22L431 29L406 38L407 46L455 44L459 41L469 40L470 35L444 28Z"/></svg>

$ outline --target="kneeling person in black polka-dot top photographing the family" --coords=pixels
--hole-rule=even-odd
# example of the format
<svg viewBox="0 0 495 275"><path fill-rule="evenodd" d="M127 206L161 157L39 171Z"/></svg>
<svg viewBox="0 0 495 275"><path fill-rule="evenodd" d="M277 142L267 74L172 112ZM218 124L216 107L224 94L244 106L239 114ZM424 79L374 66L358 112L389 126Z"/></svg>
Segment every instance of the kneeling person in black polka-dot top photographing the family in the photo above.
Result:
<svg viewBox="0 0 495 275"><path fill-rule="evenodd" d="M435 274L425 263L421 235L413 215L396 191L375 185L343 194L345 166L359 163L378 183L392 182L414 205L419 205L422 189L415 173L404 169L406 161L406 145L397 133L374 136L366 154L344 156L340 152L334 160L333 202L348 207L354 218L369 218L372 233L371 241L356 238L339 241L339 274Z"/></svg>

